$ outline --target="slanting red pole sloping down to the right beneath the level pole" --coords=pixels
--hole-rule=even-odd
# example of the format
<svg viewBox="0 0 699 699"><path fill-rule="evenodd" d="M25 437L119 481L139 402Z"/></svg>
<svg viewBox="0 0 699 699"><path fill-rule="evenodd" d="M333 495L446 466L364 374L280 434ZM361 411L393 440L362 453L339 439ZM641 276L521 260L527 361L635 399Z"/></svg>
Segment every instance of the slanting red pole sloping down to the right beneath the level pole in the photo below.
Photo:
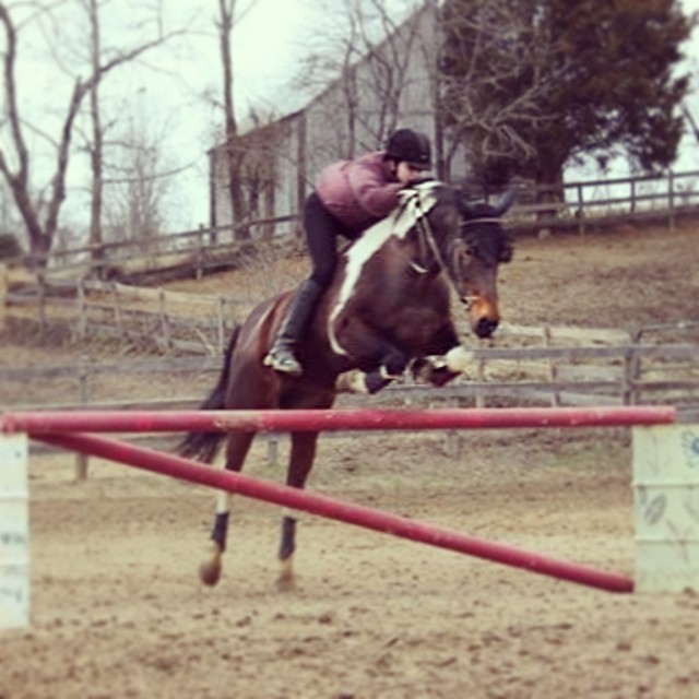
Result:
<svg viewBox="0 0 699 699"><path fill-rule="evenodd" d="M251 478L240 473L203 466L187 459L168 455L127 442L82 434L46 435L39 433L34 434L33 438L57 447L118 461L138 469L212 486L439 548L485 558L506 566L523 568L544 576L568 580L569 582L609 592L631 592L633 590L633 581L618 573L605 572L588 566L548 558L513 546L467 536L405 517L389 514L306 490Z"/></svg>

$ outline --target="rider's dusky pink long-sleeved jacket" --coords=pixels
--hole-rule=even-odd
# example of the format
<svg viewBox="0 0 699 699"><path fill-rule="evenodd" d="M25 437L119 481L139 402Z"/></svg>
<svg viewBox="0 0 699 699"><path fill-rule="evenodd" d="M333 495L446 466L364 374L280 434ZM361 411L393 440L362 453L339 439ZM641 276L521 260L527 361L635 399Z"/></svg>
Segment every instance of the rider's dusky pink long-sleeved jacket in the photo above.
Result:
<svg viewBox="0 0 699 699"><path fill-rule="evenodd" d="M335 218L359 234L396 206L402 187L379 151L329 165L318 178L316 192Z"/></svg>

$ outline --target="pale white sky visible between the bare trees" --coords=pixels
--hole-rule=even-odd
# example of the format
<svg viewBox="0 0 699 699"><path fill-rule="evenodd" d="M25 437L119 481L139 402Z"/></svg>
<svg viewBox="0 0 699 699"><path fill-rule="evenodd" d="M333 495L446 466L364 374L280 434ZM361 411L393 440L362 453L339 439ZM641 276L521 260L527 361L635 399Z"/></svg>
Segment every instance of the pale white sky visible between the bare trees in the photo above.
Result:
<svg viewBox="0 0 699 699"><path fill-rule="evenodd" d="M250 0L238 0L245 8ZM408 0L392 0L402 11ZM20 0L8 2L12 9ZM135 42L144 32L137 26L139 12L147 7L143 0L111 0L106 3L103 42L114 37L116 45ZM699 11L699 0L684 0L686 12ZM23 3L28 7L27 3ZM115 71L105 81L106 118L129 114L139 128L150 130L165 144L165 169L183 169L175 179L168 197L170 230L185 230L205 225L209 220L206 151L220 141L220 112L204 98L204 94L221 94L221 59L213 28L217 0L162 0L165 9L164 28L187 26L190 32L149 54L138 66ZM74 4L72 5L74 13ZM135 10L134 10L135 8ZM107 12L109 12L107 14ZM14 15L13 15L14 16ZM56 17L45 23L44 34L21 31L21 104L23 109L37 115L37 127L28 133L31 147L43 153L35 162L36 170L52 171L54 151L45 134L58 135L79 63L76 46L84 44L84 24L74 14ZM310 94L294 87L299 63L312 45L312 37L323 20L321 0L254 0L252 9L237 23L234 31L235 95L240 119L253 105L257 109L277 115L300 108ZM146 27L147 28L147 27ZM48 46L46 36L60 33L58 47ZM143 35L143 34L141 34ZM694 70L694 90L689 104L699 118L699 28L685 45L689 54L683 66ZM66 71L56 71L55 54L60 55ZM75 137L79 143L79 137ZM70 166L70 197L64 209L67 223L85 218L87 193L85 154L74 153ZM686 139L676 169L697 169L699 147ZM616 173L615 173L616 174ZM592 166L581 168L578 177L594 178L599 173ZM48 176L47 176L48 179Z"/></svg>

